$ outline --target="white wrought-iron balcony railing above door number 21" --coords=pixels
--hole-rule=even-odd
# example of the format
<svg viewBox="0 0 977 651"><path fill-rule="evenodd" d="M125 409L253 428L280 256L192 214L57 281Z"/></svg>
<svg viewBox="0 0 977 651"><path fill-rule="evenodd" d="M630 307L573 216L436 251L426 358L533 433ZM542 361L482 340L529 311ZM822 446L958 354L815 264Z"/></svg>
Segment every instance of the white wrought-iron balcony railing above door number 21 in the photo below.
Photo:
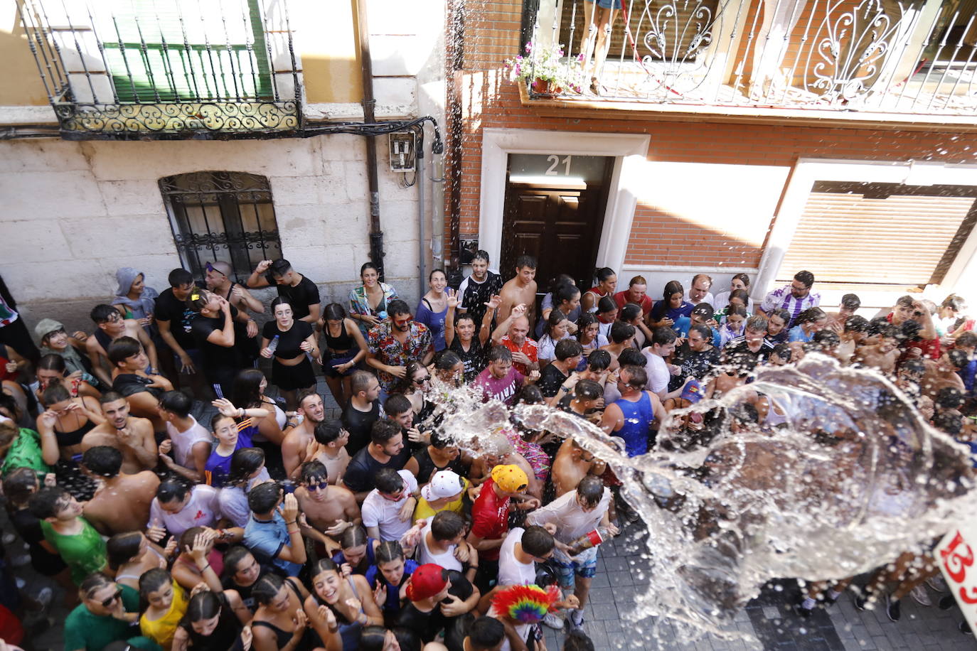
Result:
<svg viewBox="0 0 977 651"><path fill-rule="evenodd" d="M526 1L531 99L977 115L977 0Z"/></svg>

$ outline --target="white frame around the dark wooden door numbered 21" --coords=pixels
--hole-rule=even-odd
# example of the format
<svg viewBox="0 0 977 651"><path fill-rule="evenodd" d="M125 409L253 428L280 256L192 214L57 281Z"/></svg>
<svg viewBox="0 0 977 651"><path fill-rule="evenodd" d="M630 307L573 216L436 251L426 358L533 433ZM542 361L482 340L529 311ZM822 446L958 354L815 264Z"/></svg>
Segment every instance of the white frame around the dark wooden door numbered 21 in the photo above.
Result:
<svg viewBox="0 0 977 651"><path fill-rule="evenodd" d="M479 248L492 264L501 263L505 177L510 153L575 156L614 156L604 226L597 249L597 266L620 271L631 234L642 166L648 157L649 136L531 129L484 129L482 132L482 192L479 199ZM504 278L513 269L499 269Z"/></svg>

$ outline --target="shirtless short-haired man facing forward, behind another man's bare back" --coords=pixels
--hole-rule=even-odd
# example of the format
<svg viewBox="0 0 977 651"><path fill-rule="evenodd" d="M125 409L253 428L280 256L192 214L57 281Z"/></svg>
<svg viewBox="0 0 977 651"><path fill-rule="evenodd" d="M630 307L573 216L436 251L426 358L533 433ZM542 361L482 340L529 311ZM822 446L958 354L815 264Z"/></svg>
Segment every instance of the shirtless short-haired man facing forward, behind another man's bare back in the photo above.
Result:
<svg viewBox="0 0 977 651"><path fill-rule="evenodd" d="M122 453L122 472L126 474L155 468L158 451L149 420L129 416L129 403L115 391L103 393L99 402L106 422L81 439L82 453L97 445L107 445Z"/></svg>

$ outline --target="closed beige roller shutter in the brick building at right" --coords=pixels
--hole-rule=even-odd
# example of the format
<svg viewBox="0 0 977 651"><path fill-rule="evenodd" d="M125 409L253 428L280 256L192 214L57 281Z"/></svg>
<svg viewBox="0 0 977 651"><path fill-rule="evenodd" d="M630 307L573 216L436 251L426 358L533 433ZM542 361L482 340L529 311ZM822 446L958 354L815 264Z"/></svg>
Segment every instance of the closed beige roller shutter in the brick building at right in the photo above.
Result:
<svg viewBox="0 0 977 651"><path fill-rule="evenodd" d="M977 221L975 199L970 185L815 183L777 277L938 283Z"/></svg>

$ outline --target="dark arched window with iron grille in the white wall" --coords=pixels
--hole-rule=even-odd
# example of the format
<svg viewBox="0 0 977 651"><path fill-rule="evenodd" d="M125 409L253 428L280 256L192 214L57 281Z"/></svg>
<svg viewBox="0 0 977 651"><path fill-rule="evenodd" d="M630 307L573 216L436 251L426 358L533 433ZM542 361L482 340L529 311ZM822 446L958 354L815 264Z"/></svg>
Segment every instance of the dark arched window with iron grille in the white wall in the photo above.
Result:
<svg viewBox="0 0 977 651"><path fill-rule="evenodd" d="M231 264L243 281L281 258L268 179L244 172L192 172L159 180L183 264L202 277L208 262Z"/></svg>

